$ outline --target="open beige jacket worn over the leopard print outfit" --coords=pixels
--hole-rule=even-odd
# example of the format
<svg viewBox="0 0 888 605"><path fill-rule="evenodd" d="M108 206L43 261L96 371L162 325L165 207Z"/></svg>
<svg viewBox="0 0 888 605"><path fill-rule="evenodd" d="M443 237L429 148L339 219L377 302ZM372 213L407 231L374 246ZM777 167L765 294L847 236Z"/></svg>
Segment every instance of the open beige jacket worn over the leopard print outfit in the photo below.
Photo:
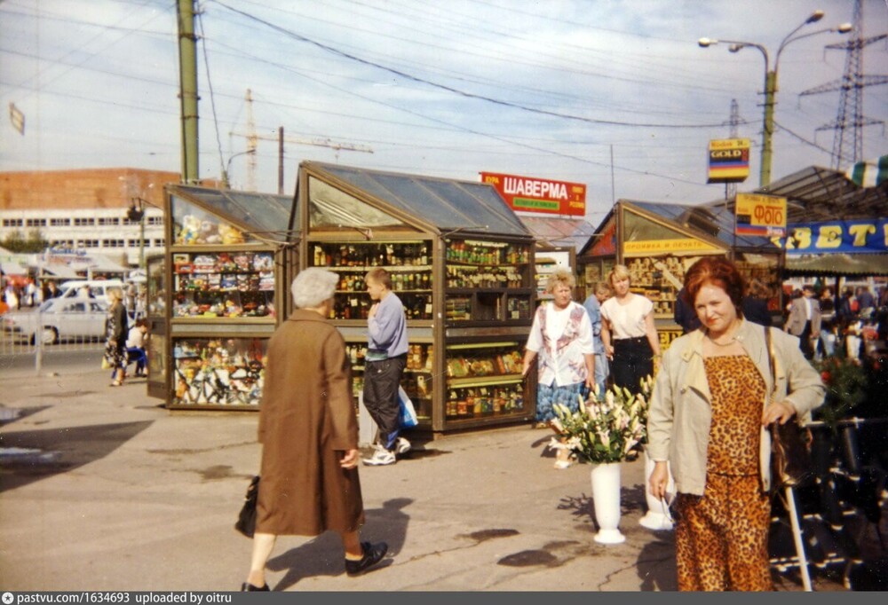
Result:
<svg viewBox="0 0 888 605"><path fill-rule="evenodd" d="M823 403L826 389L820 374L798 348L798 339L771 328L776 358L776 401L787 401L803 420ZM702 357L703 331L694 330L670 344L657 373L647 418L647 454L651 460L669 460L676 489L702 496L706 486L706 452L709 447L712 408L709 382ZM773 381L765 347L765 328L743 320L737 341L765 379L766 392ZM792 391L788 392L789 385ZM765 402L762 402L764 410ZM759 469L763 489L771 487L771 436L762 428Z"/></svg>

